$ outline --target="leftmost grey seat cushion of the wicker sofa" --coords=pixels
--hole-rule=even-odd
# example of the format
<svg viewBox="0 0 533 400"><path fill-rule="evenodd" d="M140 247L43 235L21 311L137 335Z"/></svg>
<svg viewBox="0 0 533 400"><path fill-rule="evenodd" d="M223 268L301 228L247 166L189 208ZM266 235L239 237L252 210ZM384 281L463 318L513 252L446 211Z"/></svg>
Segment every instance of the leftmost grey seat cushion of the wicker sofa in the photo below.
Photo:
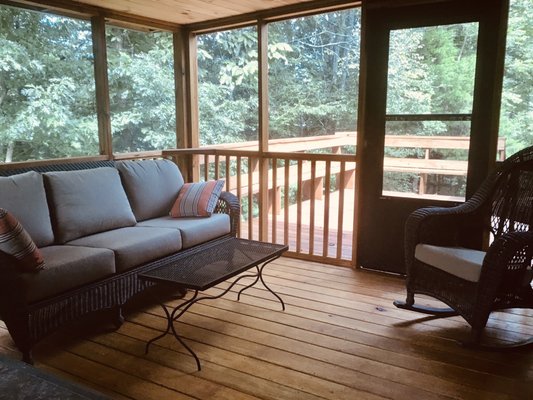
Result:
<svg viewBox="0 0 533 400"><path fill-rule="evenodd" d="M115 273L115 257L108 249L62 245L43 247L41 253L46 268L21 275L30 303Z"/></svg>

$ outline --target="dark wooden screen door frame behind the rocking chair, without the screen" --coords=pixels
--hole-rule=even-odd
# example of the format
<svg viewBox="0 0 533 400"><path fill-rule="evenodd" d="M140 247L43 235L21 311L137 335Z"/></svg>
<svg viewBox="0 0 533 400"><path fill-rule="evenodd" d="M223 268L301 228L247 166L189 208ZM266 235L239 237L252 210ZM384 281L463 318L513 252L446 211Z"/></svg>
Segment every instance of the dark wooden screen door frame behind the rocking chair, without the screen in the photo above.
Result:
<svg viewBox="0 0 533 400"><path fill-rule="evenodd" d="M405 0L363 2L359 115L357 127L356 172L356 266L404 273L403 224L407 215L423 206L450 206L457 203L427 199L388 198L382 196L383 156L389 33L393 29L415 28L464 22L478 22L478 47L471 119L470 150L466 198L470 198L496 163L508 0L486 0L466 3L458 0ZM476 4L477 3L477 4ZM372 209L383 206L397 208L404 218L393 229L369 221ZM385 205L386 206L386 205ZM387 229L385 229L387 228ZM376 229L381 229L378 234ZM376 233L377 236L370 235ZM387 235L387 237L384 237ZM390 244L401 267L388 268L374 263L368 254L382 253L383 248L372 237ZM479 245L483 234L474 238ZM383 247L383 246L381 246ZM387 249L388 251L388 249ZM372 258L372 257L370 257ZM378 257L379 258L379 257Z"/></svg>

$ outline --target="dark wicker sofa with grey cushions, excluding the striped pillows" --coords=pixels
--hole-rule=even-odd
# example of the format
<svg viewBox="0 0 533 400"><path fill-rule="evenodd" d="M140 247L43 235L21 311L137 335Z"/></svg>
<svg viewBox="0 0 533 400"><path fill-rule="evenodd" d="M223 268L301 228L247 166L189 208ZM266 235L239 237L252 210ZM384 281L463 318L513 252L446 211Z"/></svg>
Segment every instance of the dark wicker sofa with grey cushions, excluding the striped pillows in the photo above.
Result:
<svg viewBox="0 0 533 400"><path fill-rule="evenodd" d="M22 224L44 268L21 271L0 251L0 318L26 362L34 345L85 314L122 306L138 274L236 235L240 205L222 192L209 217L169 216L184 185L169 160L94 161L2 170L0 208Z"/></svg>

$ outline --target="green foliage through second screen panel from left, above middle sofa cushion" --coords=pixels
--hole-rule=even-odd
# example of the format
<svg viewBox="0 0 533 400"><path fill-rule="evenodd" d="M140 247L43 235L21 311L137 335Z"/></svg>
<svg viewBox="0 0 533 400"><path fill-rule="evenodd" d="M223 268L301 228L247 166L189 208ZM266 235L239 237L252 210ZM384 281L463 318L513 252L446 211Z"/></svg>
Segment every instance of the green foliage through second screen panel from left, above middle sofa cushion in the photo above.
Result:
<svg viewBox="0 0 533 400"><path fill-rule="evenodd" d="M176 146L172 34L107 27L115 152Z"/></svg>

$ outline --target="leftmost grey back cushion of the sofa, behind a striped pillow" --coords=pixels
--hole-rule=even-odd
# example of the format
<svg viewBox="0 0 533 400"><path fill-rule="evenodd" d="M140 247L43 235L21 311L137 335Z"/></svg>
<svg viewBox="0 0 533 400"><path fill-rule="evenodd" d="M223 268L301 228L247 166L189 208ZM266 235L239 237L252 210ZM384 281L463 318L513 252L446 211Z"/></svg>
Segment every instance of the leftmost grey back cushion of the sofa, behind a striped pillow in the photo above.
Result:
<svg viewBox="0 0 533 400"><path fill-rule="evenodd" d="M0 207L19 220L38 247L54 242L41 174L30 171L0 177Z"/></svg>

